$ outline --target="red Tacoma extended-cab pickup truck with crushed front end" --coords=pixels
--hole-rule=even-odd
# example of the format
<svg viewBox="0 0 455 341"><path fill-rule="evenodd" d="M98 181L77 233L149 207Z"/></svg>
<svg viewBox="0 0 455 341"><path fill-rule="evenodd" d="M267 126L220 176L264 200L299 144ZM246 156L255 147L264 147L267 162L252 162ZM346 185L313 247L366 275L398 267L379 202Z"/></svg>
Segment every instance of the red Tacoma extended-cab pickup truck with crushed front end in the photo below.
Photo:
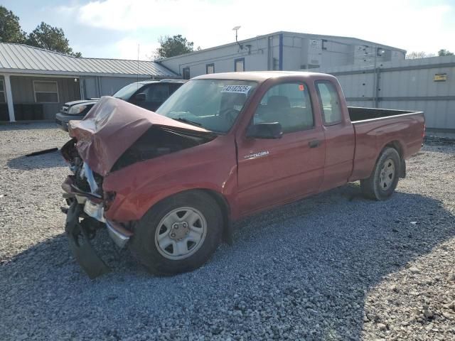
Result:
<svg viewBox="0 0 455 341"><path fill-rule="evenodd" d="M177 274L240 217L355 180L387 199L422 146L424 114L347 107L331 75L230 72L193 78L156 112L102 97L69 131L65 229L82 267L108 271L89 242L107 227L149 271Z"/></svg>

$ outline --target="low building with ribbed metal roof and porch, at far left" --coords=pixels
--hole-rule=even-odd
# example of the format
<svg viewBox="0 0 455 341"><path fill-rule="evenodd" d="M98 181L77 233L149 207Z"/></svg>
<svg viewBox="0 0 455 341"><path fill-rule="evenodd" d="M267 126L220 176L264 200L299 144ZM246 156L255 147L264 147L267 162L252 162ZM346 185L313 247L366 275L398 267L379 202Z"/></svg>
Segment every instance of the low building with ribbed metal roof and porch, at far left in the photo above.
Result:
<svg viewBox="0 0 455 341"><path fill-rule="evenodd" d="M0 121L55 118L65 102L110 95L138 80L178 78L148 60L75 58L0 43Z"/></svg>

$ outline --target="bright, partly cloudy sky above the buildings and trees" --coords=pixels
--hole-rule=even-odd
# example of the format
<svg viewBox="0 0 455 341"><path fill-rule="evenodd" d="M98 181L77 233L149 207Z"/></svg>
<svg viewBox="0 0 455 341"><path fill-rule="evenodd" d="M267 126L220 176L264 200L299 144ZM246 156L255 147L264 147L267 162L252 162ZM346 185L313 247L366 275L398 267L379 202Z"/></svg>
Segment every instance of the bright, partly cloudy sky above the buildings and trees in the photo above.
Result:
<svg viewBox="0 0 455 341"><path fill-rule="evenodd" d="M2 0L24 31L63 28L84 57L146 60L161 36L210 48L276 31L350 36L409 52L455 52L455 0Z"/></svg>

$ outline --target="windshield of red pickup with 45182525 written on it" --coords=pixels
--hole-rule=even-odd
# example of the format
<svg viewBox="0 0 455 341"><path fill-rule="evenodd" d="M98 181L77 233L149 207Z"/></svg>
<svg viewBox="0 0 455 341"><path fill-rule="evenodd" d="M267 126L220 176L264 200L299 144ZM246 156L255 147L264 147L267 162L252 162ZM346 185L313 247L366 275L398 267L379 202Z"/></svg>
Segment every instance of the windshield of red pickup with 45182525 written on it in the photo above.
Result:
<svg viewBox="0 0 455 341"><path fill-rule="evenodd" d="M256 82L245 80L190 80L156 112L225 133L234 124L256 85Z"/></svg>

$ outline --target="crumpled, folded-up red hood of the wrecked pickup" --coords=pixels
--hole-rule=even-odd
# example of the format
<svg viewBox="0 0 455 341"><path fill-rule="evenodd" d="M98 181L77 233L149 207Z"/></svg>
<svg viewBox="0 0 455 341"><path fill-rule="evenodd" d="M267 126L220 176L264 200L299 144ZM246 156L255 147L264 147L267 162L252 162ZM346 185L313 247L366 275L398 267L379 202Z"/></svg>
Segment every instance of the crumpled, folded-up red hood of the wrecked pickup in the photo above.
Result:
<svg viewBox="0 0 455 341"><path fill-rule="evenodd" d="M101 97L81 121L70 121L68 131L77 140L82 160L96 173L105 176L114 163L151 126L163 126L191 134L213 134L155 112L116 99Z"/></svg>

